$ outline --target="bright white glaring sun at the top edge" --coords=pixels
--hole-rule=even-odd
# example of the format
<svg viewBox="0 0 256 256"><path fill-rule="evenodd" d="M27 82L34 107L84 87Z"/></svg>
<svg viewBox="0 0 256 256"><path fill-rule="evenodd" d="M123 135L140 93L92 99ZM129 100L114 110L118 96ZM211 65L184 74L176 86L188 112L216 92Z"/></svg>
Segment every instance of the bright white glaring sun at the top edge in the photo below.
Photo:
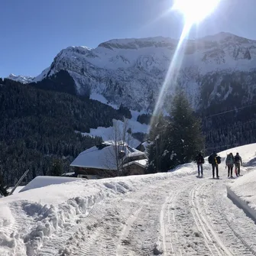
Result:
<svg viewBox="0 0 256 256"><path fill-rule="evenodd" d="M197 24L219 5L221 0L174 0L173 10L180 11L185 21Z"/></svg>

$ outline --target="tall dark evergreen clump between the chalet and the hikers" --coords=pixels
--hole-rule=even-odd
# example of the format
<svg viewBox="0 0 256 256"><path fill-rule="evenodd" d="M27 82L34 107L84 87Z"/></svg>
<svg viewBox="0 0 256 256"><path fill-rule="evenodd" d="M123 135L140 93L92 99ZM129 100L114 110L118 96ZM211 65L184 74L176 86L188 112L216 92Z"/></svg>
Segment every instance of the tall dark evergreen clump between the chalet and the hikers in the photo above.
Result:
<svg viewBox="0 0 256 256"><path fill-rule="evenodd" d="M183 92L172 101L170 117L160 115L151 125L147 147L147 173L164 172L189 163L202 150L203 135L199 119Z"/></svg>

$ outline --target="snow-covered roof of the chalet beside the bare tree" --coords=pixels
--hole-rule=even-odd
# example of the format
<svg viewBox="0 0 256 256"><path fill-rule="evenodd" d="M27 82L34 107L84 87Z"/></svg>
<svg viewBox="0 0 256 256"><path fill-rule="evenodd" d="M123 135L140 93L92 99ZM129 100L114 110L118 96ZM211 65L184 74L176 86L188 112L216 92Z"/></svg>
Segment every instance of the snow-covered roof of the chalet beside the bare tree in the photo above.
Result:
<svg viewBox="0 0 256 256"><path fill-rule="evenodd" d="M102 170L117 170L115 157L115 142L105 141L99 146L91 147L83 151L70 164L72 167L96 168ZM124 151L125 158L138 157L146 155L144 152L136 150L134 147L129 147L128 144L119 142L118 152Z"/></svg>

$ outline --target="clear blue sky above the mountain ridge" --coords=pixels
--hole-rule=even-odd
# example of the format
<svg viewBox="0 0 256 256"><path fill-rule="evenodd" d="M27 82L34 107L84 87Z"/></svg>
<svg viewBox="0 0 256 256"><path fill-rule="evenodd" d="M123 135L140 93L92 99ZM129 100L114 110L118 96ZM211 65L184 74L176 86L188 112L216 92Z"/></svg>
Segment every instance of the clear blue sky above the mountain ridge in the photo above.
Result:
<svg viewBox="0 0 256 256"><path fill-rule="evenodd" d="M193 1L193 0L191 0ZM1 0L0 77L37 76L71 45L128 37L180 37L183 18L163 15L172 0ZM222 0L190 37L220 31L256 39L255 0Z"/></svg>

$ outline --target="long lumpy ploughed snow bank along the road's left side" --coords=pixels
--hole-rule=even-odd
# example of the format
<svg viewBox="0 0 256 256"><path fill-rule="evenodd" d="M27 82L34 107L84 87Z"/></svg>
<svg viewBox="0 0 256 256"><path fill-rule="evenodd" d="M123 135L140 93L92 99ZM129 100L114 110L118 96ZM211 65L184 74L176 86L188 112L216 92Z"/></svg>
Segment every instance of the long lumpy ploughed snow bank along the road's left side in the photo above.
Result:
<svg viewBox="0 0 256 256"><path fill-rule="evenodd" d="M37 177L23 193L0 199L0 255L38 254L44 242L79 225L96 204L141 190L157 180L195 173L193 169L190 164L190 168L180 167L173 173L104 180Z"/></svg>

